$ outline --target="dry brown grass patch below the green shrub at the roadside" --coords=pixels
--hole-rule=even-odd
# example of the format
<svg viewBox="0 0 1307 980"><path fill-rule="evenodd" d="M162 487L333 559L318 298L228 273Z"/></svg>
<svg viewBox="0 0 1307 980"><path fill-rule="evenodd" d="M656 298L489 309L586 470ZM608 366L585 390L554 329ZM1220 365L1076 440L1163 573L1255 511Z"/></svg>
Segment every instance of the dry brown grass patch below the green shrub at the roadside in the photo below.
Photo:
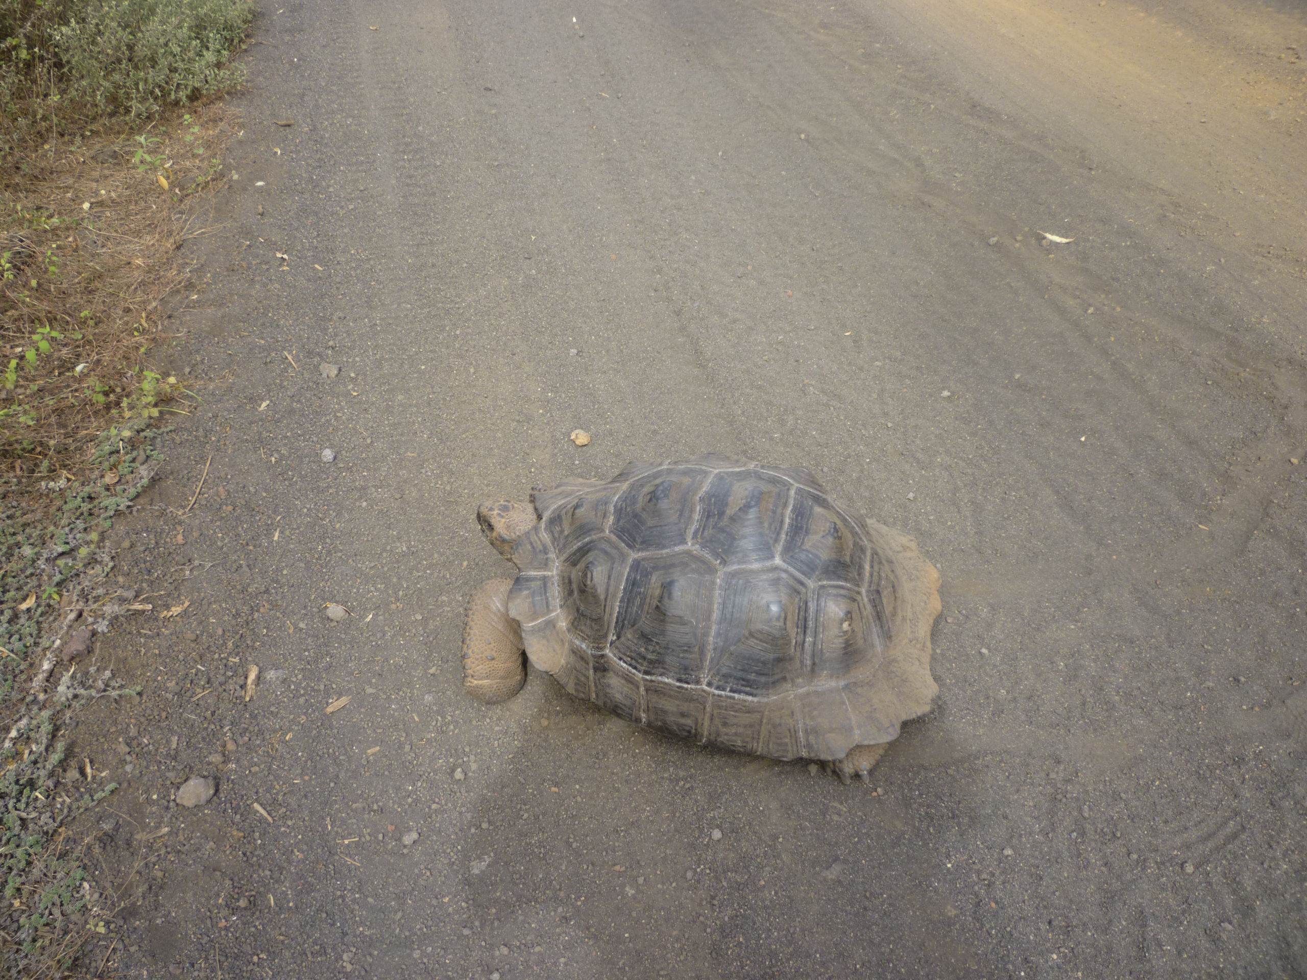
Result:
<svg viewBox="0 0 1307 980"><path fill-rule="evenodd" d="M76 476L108 425L182 393L145 358L237 120L213 102L139 125L31 146L0 176L0 473L20 482Z"/></svg>

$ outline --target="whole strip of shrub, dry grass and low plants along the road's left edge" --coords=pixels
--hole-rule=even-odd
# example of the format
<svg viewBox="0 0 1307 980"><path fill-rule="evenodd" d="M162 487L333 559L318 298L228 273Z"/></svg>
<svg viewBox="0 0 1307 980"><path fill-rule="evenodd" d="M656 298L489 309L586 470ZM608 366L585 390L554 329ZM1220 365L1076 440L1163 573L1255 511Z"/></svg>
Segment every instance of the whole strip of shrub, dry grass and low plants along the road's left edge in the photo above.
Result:
<svg viewBox="0 0 1307 980"><path fill-rule="evenodd" d="M0 972L54 977L105 930L69 821L112 787L67 712L131 694L80 666L127 612L102 547L199 397L150 370L180 246L225 179L214 97L251 0L0 0Z"/></svg>

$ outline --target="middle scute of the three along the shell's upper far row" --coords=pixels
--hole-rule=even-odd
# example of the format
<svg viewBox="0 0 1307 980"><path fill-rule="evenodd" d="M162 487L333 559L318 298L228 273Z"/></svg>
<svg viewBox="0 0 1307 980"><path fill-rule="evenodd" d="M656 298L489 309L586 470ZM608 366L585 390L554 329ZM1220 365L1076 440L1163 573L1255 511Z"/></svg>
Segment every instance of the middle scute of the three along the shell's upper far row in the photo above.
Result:
<svg viewBox="0 0 1307 980"><path fill-rule="evenodd" d="M699 494L694 542L723 564L775 561L792 486L752 469L716 473Z"/></svg>

